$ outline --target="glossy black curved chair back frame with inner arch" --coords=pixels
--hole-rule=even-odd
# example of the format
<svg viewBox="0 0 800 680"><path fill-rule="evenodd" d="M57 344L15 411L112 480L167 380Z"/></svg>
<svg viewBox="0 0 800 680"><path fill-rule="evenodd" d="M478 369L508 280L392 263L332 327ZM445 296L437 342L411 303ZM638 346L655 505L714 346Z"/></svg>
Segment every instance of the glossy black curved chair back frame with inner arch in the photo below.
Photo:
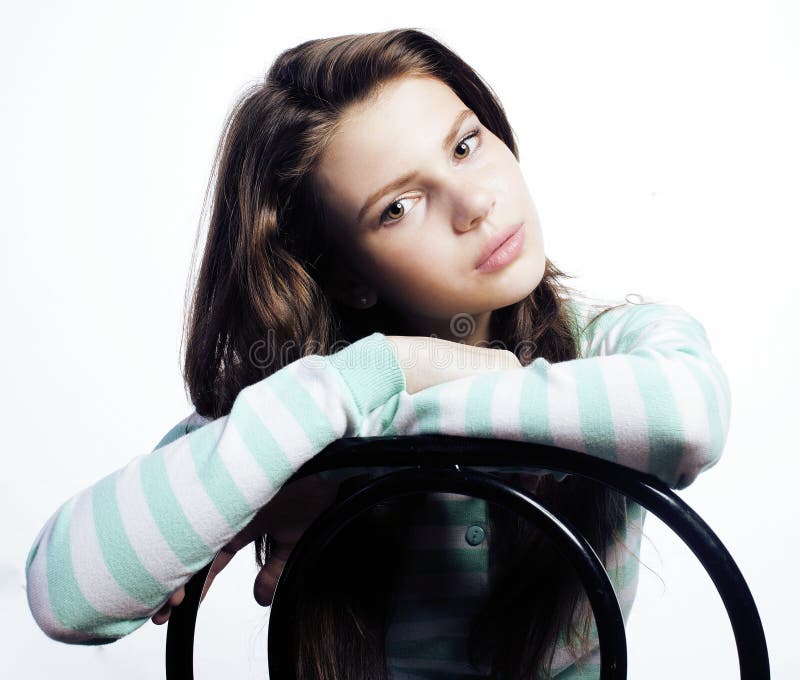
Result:
<svg viewBox="0 0 800 680"><path fill-rule="evenodd" d="M474 468L530 468L579 475L633 499L662 520L690 548L714 583L728 612L742 680L770 677L766 638L747 583L722 541L681 498L658 478L585 453L559 447L483 437L412 435L337 440L303 465L287 482L342 468L398 468L337 500L308 527L295 545L273 596L268 631L272 680L294 678L291 618L304 575L349 522L379 502L400 496L447 491L502 505L534 522L551 538L581 579L597 625L601 680L627 673L625 630L605 567L586 539L562 515L495 472ZM211 563L186 584L182 604L167 628L168 680L192 679L194 628L200 593Z"/></svg>

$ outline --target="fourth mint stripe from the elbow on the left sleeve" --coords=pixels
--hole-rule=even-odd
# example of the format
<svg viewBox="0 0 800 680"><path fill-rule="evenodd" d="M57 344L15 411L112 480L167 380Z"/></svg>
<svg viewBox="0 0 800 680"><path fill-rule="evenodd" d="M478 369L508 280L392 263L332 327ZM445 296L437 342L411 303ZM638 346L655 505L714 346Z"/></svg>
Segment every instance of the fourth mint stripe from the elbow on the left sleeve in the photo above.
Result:
<svg viewBox="0 0 800 680"><path fill-rule="evenodd" d="M246 524L241 518L250 516L252 508L217 451L222 427L221 424L196 430L189 437L189 447L197 476L211 502L228 526L238 531Z"/></svg>

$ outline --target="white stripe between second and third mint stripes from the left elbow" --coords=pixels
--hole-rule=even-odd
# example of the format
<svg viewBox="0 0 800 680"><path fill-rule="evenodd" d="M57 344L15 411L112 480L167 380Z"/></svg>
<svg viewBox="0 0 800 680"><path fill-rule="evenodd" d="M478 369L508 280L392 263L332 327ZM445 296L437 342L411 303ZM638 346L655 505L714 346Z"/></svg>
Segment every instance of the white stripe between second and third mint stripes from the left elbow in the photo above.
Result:
<svg viewBox="0 0 800 680"><path fill-rule="evenodd" d="M117 507L125 533L134 552L148 573L168 590L175 590L185 578L187 569L164 540L142 488L140 456L121 470L117 477ZM162 581L156 574L180 574L178 578Z"/></svg>

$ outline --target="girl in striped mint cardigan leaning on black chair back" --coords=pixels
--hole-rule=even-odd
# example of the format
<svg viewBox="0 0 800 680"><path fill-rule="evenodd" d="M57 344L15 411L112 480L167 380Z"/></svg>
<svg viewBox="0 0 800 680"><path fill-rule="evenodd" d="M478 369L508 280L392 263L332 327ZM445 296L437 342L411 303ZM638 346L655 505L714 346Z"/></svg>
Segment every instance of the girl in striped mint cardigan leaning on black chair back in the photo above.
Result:
<svg viewBox="0 0 800 680"><path fill-rule="evenodd" d="M342 437L539 442L678 489L719 458L729 386L702 325L670 304L591 305L560 281L500 102L429 35L283 52L232 111L214 179L188 317L195 411L40 531L28 599L50 637L163 623L194 573L254 540L268 604L339 484L375 474L281 488ZM584 532L627 620L642 509L576 476L504 474ZM575 574L478 499L376 508L304 596L298 677L598 675Z"/></svg>

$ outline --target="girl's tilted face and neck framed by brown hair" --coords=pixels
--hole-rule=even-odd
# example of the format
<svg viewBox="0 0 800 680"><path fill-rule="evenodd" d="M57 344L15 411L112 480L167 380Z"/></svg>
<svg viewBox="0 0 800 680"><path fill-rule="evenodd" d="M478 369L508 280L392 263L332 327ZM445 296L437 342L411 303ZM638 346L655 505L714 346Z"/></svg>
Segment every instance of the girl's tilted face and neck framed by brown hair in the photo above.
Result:
<svg viewBox="0 0 800 680"><path fill-rule="evenodd" d="M315 180L337 252L329 292L359 309L383 300L410 335L490 340L491 312L541 281L539 218L516 158L438 79L390 81L349 109ZM516 257L479 269L520 224ZM456 335L464 314L470 332Z"/></svg>

